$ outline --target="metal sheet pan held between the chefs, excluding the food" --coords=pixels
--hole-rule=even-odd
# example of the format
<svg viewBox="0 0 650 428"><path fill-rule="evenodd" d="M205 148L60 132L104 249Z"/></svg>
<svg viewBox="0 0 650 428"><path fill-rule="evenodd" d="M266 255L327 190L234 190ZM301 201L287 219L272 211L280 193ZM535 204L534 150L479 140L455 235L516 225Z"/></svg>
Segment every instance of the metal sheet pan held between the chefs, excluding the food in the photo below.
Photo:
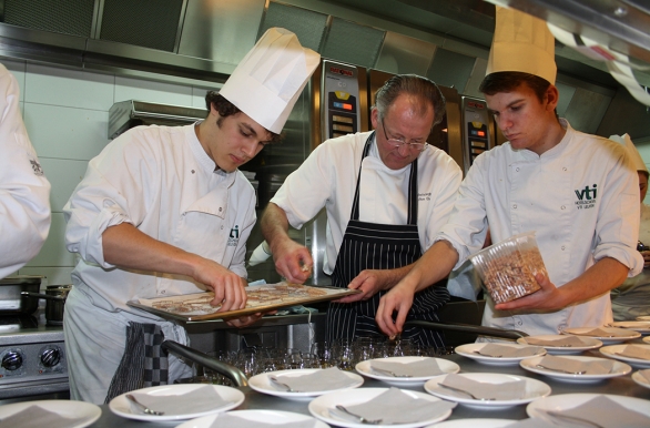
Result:
<svg viewBox="0 0 650 428"><path fill-rule="evenodd" d="M246 288L253 289L253 288L260 288L260 287L268 287L268 286L273 286L273 285L276 285L276 284L266 284L266 285L261 285L261 286L248 286ZM211 293L197 293L197 294L191 294L191 295L185 295L185 296L158 297L158 298L152 298L152 299L129 300L129 302L126 302L126 305L131 306L131 307L136 307L139 309L149 312L151 314L155 314L164 319L180 320L180 322L185 322L185 323L189 323L189 322L194 323L194 322L209 322L209 320L215 320L215 319L224 319L224 318L236 318L236 317L241 317L244 315L264 313L264 312L268 312L268 310L276 310L276 309L282 309L282 308L296 306L296 305L305 305L305 304L312 304L312 303L318 303L318 302L335 300L335 299L342 298L344 296L349 296L353 294L362 293L358 289L337 288L337 287L328 287L328 286L305 285L304 287L326 291L327 294L322 295L322 296L313 296L313 297L312 296L295 296L295 298L291 298L291 296L288 296L287 298L290 298L290 299L287 299L285 302L281 302L281 303L272 303L272 304L267 304L267 305L261 304L260 306L246 307L244 309L214 312L211 314L181 314L177 312L165 310L162 308L155 308L155 307L151 306L153 302L161 302L161 300L179 300L179 299L183 299L183 298L200 299L202 297L210 296ZM142 303L142 302L145 302L145 303ZM215 308L215 310L217 310L217 308Z"/></svg>

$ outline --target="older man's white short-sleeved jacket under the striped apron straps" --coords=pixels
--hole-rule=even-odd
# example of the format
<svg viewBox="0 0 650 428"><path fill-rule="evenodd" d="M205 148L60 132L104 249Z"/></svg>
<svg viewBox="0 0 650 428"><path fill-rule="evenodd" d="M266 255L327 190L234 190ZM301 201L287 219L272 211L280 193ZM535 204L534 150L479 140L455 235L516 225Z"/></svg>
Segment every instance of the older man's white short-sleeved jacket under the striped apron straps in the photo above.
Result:
<svg viewBox="0 0 650 428"><path fill-rule="evenodd" d="M366 140L362 132L327 140L286 177L271 200L285 211L293 227L301 228L326 207L327 245L324 271L332 274L338 248L349 222ZM363 160L359 188L359 221L406 224L410 165L390 170L373 142ZM463 173L444 151L428 145L418 156L418 232L423 252L447 222Z"/></svg>

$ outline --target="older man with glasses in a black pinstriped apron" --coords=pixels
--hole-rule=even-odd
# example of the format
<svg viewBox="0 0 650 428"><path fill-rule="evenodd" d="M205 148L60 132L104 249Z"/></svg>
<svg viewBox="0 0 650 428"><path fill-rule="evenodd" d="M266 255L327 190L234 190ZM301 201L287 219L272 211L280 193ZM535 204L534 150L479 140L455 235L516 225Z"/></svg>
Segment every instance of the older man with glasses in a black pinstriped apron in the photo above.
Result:
<svg viewBox="0 0 650 428"><path fill-rule="evenodd" d="M288 225L299 228L325 207L327 246L324 271L333 285L362 293L332 303L326 339L379 334L375 315L379 297L409 272L446 223L461 181L458 165L426 143L445 114L438 86L417 75L396 75L375 95L370 120L376 131L325 141L291 174L262 217L276 269L304 283L313 261L292 241ZM446 287L416 296L409 318L437 320L449 300ZM443 346L441 337L420 328L404 337Z"/></svg>

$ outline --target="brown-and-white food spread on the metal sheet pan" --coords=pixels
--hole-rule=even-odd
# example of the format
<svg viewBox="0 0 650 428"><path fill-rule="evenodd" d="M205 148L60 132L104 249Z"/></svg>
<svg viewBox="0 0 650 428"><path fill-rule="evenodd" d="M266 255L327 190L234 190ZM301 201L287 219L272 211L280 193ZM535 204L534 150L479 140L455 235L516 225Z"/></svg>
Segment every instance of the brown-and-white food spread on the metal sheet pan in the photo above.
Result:
<svg viewBox="0 0 650 428"><path fill-rule="evenodd" d="M270 305L282 305L327 295L326 289L309 287L301 284L268 284L246 287L246 308L264 307ZM140 299L141 304L149 305L154 309L161 309L181 315L204 315L213 314L220 306L212 306L210 302L214 293L200 293L170 298Z"/></svg>

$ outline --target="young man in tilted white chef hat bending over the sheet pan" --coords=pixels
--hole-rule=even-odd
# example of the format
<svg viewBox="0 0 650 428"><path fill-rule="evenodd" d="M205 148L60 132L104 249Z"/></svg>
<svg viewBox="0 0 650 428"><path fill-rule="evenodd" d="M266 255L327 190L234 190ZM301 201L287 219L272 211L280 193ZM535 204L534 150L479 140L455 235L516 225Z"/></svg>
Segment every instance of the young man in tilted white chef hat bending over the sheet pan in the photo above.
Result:
<svg viewBox="0 0 650 428"><path fill-rule="evenodd" d="M294 33L270 29L222 90L207 93L205 120L132 129L90 161L64 207L65 243L80 255L64 312L73 399L101 404L191 375L172 355L135 373L139 337L145 346L187 337L126 302L213 291L220 310L245 307L255 193L237 169L278 139L318 60Z"/></svg>

